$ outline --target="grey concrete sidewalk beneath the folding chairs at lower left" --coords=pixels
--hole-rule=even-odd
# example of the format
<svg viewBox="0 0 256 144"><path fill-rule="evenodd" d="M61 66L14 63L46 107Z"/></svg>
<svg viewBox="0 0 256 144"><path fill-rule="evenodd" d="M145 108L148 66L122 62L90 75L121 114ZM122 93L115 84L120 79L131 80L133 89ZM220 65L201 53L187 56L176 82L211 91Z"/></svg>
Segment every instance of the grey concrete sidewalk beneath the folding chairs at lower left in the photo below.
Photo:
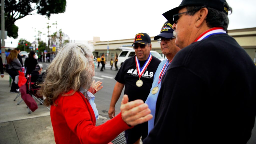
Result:
<svg viewBox="0 0 256 144"><path fill-rule="evenodd" d="M16 93L9 92L9 75L0 78L0 143L55 143L51 126L50 111L43 105L28 114L27 105L19 105Z"/></svg>

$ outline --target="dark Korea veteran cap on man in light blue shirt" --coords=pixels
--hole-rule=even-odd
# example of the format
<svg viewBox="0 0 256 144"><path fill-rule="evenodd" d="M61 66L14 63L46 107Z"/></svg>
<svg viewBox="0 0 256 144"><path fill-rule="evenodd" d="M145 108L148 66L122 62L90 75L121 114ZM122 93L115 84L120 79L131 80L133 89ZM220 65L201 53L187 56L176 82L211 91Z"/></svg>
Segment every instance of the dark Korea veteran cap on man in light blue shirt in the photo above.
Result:
<svg viewBox="0 0 256 144"><path fill-rule="evenodd" d="M172 29L173 25L171 23L169 23L168 21L164 23L160 34L154 37L154 40L157 40L159 38L167 38L170 39L173 37L173 29Z"/></svg>

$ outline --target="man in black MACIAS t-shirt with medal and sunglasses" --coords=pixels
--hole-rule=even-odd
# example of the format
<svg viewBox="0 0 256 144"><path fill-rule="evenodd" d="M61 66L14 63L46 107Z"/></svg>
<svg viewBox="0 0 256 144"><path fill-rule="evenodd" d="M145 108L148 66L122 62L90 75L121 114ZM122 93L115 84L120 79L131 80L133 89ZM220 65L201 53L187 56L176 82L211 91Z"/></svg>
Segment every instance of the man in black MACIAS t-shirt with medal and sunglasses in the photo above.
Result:
<svg viewBox="0 0 256 144"><path fill-rule="evenodd" d="M115 76L116 84L108 112L111 119L115 116L115 104L121 95L124 85L124 94L128 95L129 101L136 99L146 101L153 83L155 71L161 62L150 54L152 45L148 34L136 34L132 46L135 50L135 56L126 59ZM140 137L143 140L147 136L147 128L148 124L145 122L126 130L126 143L140 143Z"/></svg>

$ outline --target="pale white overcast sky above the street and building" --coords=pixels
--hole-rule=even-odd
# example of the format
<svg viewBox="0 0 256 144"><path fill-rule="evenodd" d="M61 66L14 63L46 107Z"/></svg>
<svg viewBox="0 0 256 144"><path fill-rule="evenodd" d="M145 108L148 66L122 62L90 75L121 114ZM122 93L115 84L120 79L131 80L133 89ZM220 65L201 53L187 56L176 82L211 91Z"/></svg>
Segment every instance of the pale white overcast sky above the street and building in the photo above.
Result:
<svg viewBox="0 0 256 144"><path fill-rule="evenodd" d="M229 30L256 27L255 0L226 1L233 8L233 13L228 16ZM180 3L181 0L67 0L66 12L52 14L49 21L37 14L17 20L15 25L19 27L19 36L17 39L8 37L5 46L17 47L20 38L32 43L38 30L47 35L46 23L56 21L57 30L62 29L72 42L93 40L93 36L100 37L101 41L130 39L141 32L156 36L166 22L162 14ZM56 32L56 25L51 25L50 34L53 32ZM41 35L43 41L47 40L46 35Z"/></svg>

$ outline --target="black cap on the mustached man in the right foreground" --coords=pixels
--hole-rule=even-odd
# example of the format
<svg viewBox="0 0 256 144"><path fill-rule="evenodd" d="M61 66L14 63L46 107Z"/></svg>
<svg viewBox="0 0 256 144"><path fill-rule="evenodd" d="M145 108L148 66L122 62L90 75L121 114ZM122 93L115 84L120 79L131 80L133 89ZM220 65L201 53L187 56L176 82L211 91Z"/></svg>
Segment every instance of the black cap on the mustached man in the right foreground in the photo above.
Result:
<svg viewBox="0 0 256 144"><path fill-rule="evenodd" d="M186 6L206 6L228 14L228 9L224 7L224 2L226 2L226 0L183 0L178 7L175 7L162 15L170 23L174 24L173 15L178 14L179 10Z"/></svg>

